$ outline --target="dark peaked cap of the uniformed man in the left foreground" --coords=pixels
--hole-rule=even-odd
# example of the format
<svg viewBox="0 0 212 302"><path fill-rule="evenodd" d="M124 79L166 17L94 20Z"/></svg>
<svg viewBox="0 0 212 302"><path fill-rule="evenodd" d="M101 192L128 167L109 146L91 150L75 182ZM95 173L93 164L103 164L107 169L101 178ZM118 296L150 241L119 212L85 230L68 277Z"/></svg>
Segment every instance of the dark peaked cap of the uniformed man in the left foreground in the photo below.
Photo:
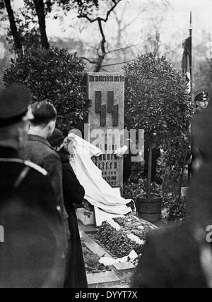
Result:
<svg viewBox="0 0 212 302"><path fill-rule="evenodd" d="M30 90L25 85L11 85L0 91L0 128L23 119L30 104Z"/></svg>

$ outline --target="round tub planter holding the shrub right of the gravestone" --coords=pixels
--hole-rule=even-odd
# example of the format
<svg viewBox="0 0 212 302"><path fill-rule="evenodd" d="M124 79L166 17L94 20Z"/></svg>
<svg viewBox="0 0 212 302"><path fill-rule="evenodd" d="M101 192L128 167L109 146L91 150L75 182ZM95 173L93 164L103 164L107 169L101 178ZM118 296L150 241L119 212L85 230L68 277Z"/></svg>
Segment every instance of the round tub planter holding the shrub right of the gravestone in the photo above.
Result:
<svg viewBox="0 0 212 302"><path fill-rule="evenodd" d="M136 208L139 217L151 223L159 222L162 213L162 200L163 198L159 195L151 195L149 200L144 195L138 195Z"/></svg>

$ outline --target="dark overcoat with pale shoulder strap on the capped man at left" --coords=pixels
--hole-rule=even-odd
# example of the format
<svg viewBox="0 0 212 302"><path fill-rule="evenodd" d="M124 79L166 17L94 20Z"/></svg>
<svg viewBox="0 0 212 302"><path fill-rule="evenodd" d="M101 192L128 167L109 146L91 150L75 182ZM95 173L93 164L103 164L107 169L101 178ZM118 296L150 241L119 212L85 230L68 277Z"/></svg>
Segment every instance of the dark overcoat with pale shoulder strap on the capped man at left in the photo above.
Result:
<svg viewBox="0 0 212 302"><path fill-rule="evenodd" d="M64 286L58 206L47 171L0 147L1 288Z"/></svg>

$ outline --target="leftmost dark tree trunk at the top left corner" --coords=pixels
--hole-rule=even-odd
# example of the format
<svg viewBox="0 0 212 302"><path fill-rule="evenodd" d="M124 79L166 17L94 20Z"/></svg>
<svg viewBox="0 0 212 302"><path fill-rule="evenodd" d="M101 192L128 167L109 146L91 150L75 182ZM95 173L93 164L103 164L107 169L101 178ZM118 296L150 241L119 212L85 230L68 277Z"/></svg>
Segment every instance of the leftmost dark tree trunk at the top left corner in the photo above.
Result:
<svg viewBox="0 0 212 302"><path fill-rule="evenodd" d="M20 35L18 32L18 28L16 26L16 20L13 12L13 8L11 6L11 0L4 0L6 11L8 13L8 19L10 22L11 34L13 36L14 48L16 54L23 54L22 43L20 41Z"/></svg>

